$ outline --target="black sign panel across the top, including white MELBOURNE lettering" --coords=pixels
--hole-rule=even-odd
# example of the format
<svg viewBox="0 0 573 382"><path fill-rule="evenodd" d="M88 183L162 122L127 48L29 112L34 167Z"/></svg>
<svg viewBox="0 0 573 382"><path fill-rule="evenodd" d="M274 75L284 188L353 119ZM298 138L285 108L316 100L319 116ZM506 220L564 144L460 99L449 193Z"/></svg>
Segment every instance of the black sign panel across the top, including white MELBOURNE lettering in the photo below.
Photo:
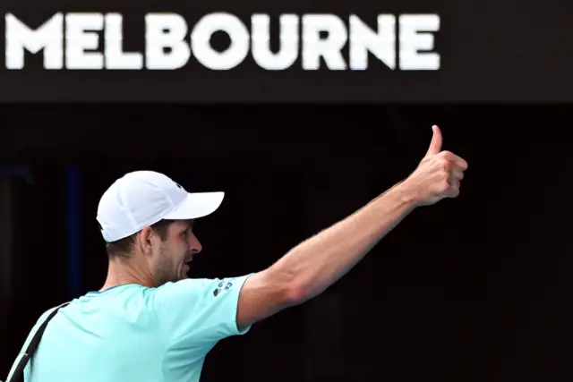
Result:
<svg viewBox="0 0 573 382"><path fill-rule="evenodd" d="M208 3L5 0L0 101L573 101L569 3Z"/></svg>

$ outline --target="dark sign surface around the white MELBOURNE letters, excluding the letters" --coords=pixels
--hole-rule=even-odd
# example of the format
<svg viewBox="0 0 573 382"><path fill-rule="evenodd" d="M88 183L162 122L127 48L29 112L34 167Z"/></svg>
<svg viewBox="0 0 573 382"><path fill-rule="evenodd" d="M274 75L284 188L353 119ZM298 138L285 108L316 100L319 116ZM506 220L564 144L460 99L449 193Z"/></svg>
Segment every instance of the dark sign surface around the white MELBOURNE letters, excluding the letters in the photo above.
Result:
<svg viewBox="0 0 573 382"><path fill-rule="evenodd" d="M359 72L304 72L299 62L267 72L249 59L226 72L194 60L177 71L103 72L45 71L41 55L28 55L24 71L8 71L0 55L0 102L573 102L573 3L566 0L4 0L0 12L14 13L31 27L58 12L123 13L125 47L138 51L143 16L150 12L179 13L190 26L208 13L233 13L247 27L252 13L268 13L273 38L282 13L333 13L344 21L354 13L372 28L381 13L437 13L435 50L441 56L437 72L390 71L372 56L369 69ZM0 47L4 51L4 38Z"/></svg>

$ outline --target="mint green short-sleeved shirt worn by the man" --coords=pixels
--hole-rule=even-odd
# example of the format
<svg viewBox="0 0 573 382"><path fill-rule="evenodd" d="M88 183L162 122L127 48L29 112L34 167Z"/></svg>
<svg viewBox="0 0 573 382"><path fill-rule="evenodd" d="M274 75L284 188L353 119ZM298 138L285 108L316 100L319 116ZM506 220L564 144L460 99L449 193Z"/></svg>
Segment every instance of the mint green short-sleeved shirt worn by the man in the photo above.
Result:
<svg viewBox="0 0 573 382"><path fill-rule="evenodd" d="M236 325L247 277L126 284L73 300L48 324L25 381L197 382L213 346L249 330Z"/></svg>

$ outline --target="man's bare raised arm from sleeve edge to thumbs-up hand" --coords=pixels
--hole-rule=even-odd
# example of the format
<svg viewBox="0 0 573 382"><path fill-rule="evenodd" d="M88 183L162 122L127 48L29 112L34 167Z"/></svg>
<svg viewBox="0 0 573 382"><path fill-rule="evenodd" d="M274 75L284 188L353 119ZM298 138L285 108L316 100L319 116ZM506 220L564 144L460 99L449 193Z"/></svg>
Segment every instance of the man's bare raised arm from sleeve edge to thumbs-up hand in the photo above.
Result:
<svg viewBox="0 0 573 382"><path fill-rule="evenodd" d="M249 277L239 296L237 326L248 327L322 293L414 208L457 197L467 164L441 151L441 140L434 126L430 149L405 181Z"/></svg>

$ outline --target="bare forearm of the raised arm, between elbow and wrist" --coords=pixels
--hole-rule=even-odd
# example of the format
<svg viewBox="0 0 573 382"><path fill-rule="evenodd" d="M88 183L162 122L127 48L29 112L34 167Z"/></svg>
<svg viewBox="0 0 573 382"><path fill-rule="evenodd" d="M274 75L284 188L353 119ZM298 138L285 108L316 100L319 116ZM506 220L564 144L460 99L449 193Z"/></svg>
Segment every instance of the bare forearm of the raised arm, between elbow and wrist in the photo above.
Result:
<svg viewBox="0 0 573 382"><path fill-rule="evenodd" d="M415 208L403 183L290 250L269 271L301 303L323 292L363 259L372 247Z"/></svg>

